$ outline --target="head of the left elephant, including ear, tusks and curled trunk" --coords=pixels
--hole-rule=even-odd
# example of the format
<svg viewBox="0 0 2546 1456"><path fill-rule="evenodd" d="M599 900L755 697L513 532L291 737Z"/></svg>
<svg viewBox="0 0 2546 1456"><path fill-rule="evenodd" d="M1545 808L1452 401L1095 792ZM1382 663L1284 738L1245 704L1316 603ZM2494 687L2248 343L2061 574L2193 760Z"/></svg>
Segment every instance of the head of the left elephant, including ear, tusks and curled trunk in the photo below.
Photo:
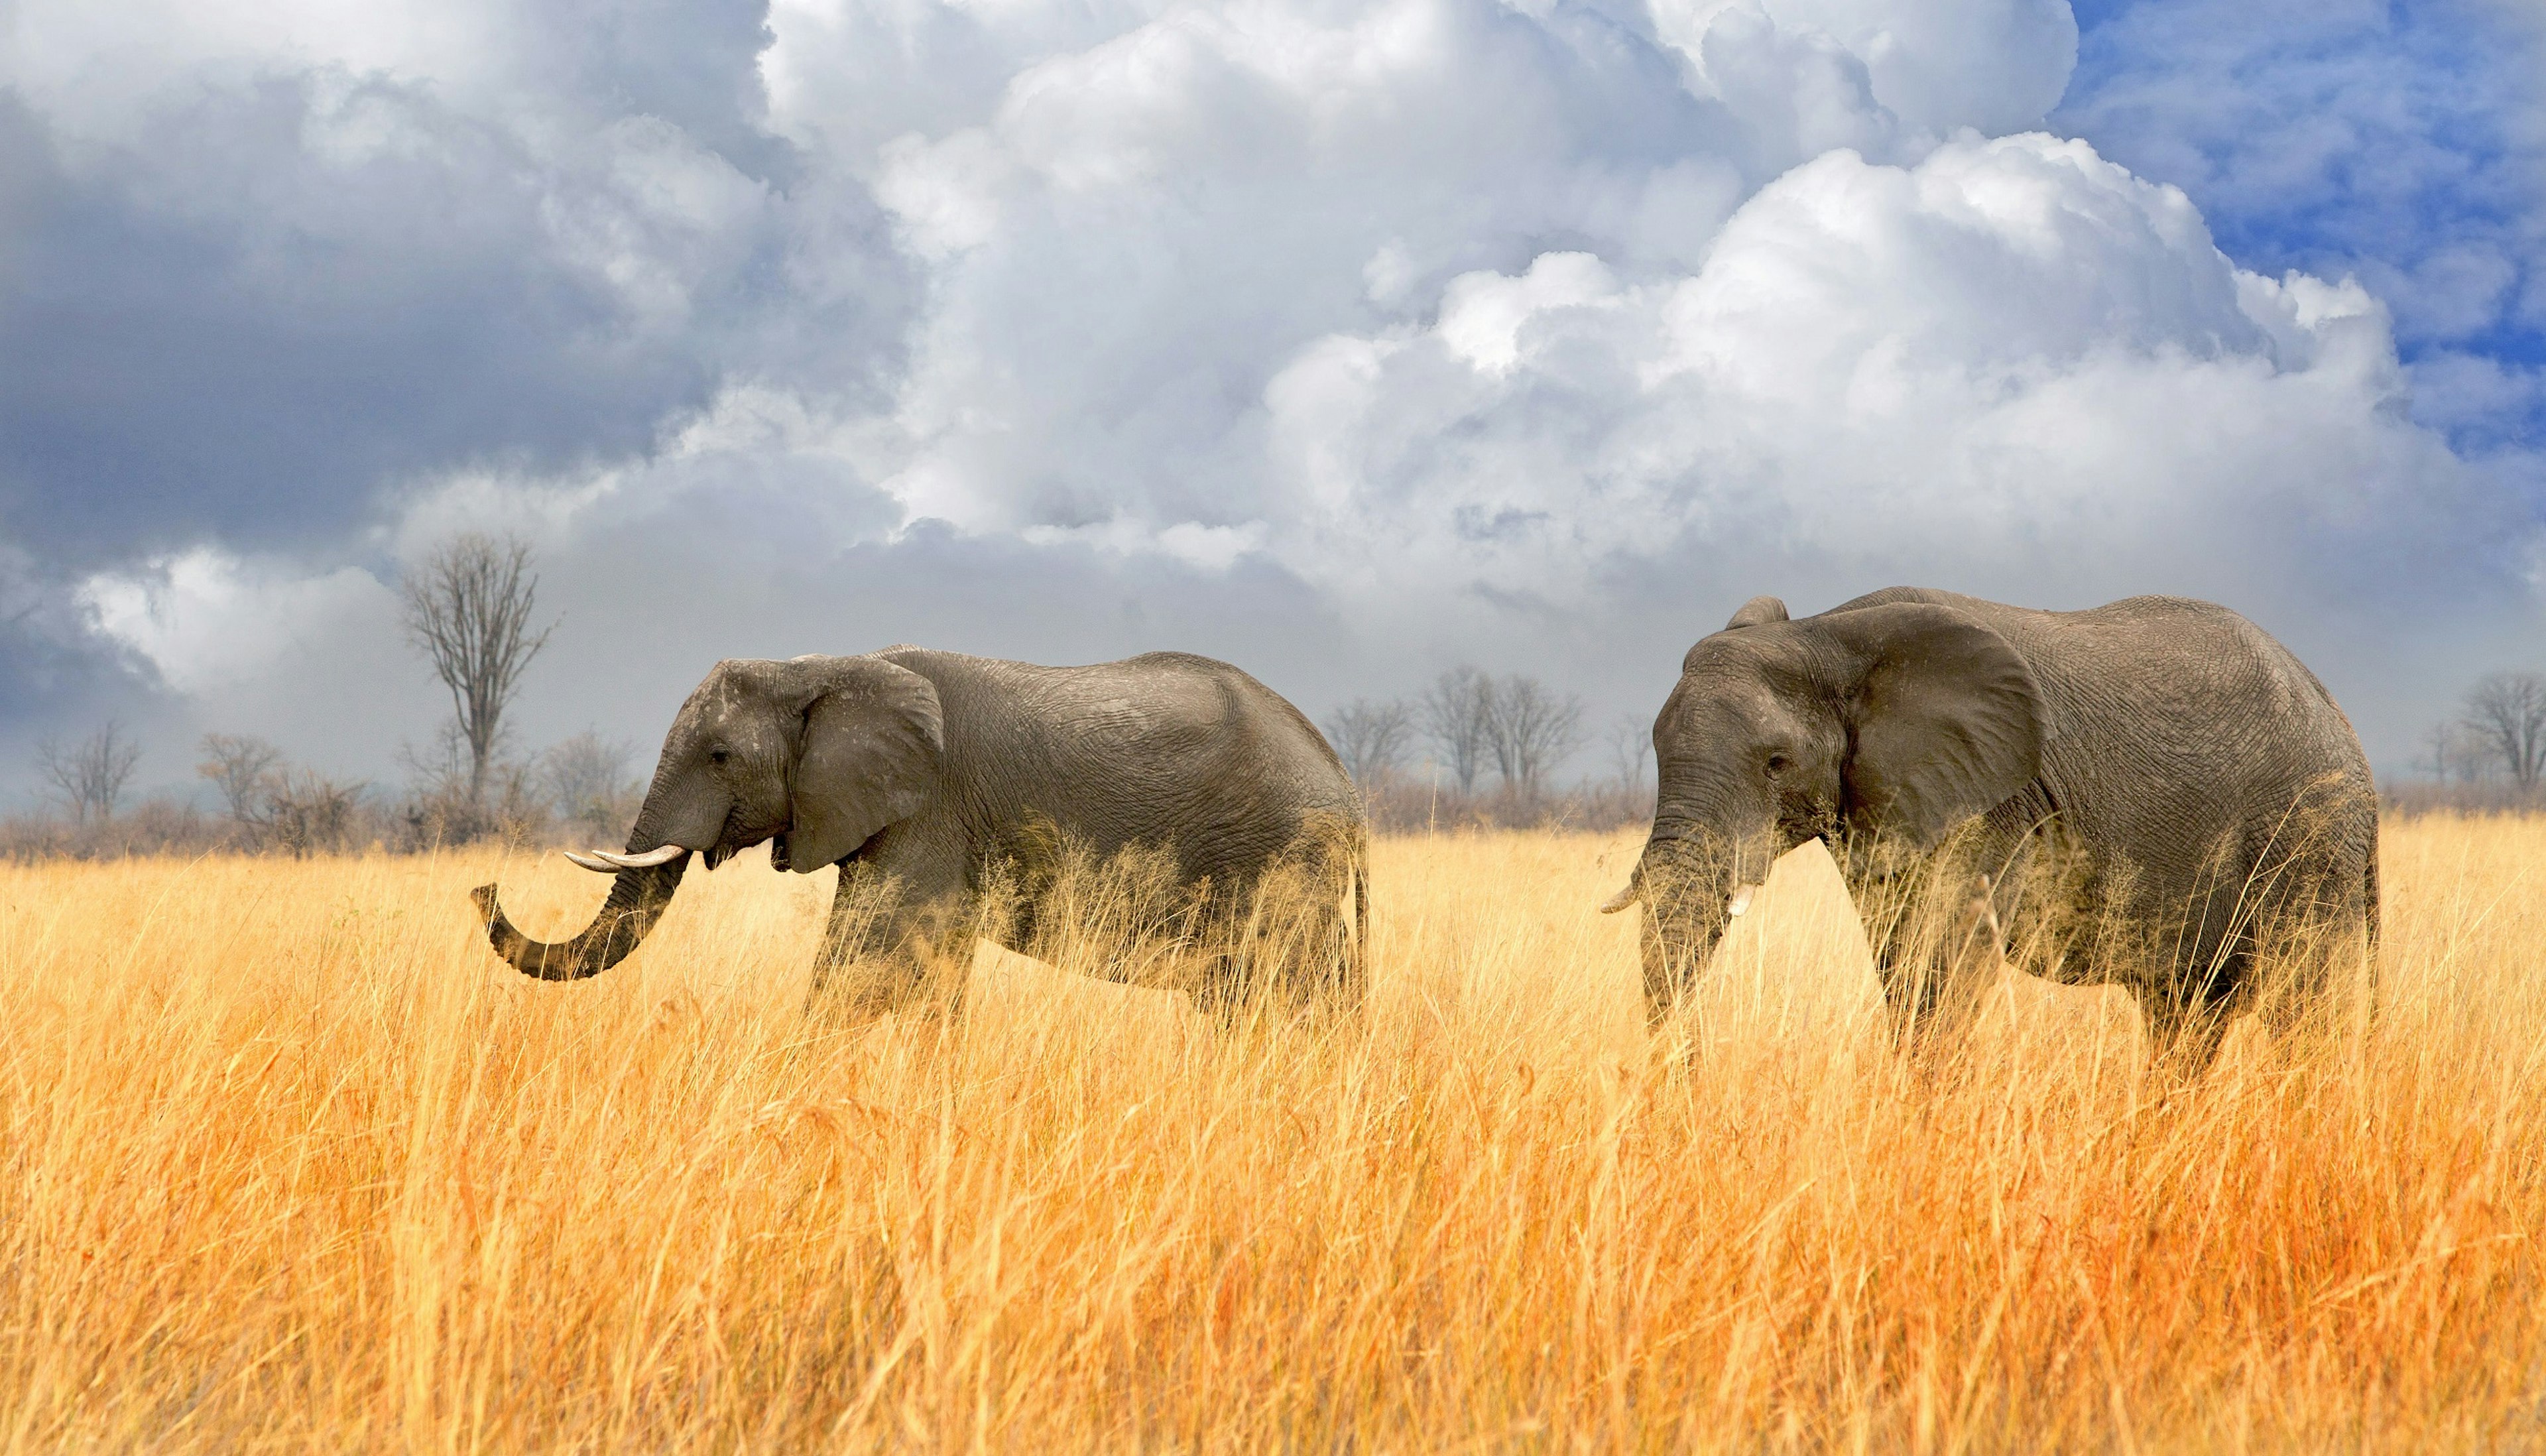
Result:
<svg viewBox="0 0 2546 1456"><path fill-rule="evenodd" d="M945 753L937 687L881 657L718 662L665 733L626 853L568 855L616 876L601 914L570 942L512 927L494 886L474 899L496 955L540 980L580 980L654 929L698 853L713 871L777 840L774 868L812 873L927 804Z"/></svg>

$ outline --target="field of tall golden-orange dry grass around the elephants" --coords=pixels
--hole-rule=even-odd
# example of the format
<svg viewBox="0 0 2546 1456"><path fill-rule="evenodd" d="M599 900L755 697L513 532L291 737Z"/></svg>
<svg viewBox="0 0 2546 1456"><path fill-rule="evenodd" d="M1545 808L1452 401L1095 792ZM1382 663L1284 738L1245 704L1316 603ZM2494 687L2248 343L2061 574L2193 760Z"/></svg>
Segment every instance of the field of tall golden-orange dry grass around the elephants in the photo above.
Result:
<svg viewBox="0 0 2546 1456"><path fill-rule="evenodd" d="M807 1021L756 858L583 985L552 855L0 868L0 1448L2546 1448L2546 820L2190 1087L2016 980L1904 1072L1818 848L1650 1049L1629 855L1382 840L1367 1033Z"/></svg>

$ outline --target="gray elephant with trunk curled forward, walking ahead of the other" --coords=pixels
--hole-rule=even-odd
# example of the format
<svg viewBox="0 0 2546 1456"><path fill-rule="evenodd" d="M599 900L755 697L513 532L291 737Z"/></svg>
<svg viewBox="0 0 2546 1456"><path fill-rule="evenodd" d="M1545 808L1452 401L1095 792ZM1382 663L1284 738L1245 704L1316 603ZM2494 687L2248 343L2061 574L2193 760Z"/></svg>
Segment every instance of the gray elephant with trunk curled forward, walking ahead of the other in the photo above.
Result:
<svg viewBox="0 0 2546 1456"><path fill-rule="evenodd" d="M1095 667L919 647L718 662L665 736L626 853L680 845L713 871L774 840L782 871L840 865L815 985L850 960L883 962L858 1011L889 1011L932 990L929 952L973 929L990 865L1054 830L1097 855L1161 848L1222 901L1301 835L1324 835L1326 868L1362 904L1360 799L1334 751L1263 682L1181 652ZM687 860L619 871L593 924L563 944L522 937L494 886L476 901L507 962L578 980L644 942ZM1321 990L1357 995L1357 929L1334 927L1344 949L1319 970Z"/></svg>

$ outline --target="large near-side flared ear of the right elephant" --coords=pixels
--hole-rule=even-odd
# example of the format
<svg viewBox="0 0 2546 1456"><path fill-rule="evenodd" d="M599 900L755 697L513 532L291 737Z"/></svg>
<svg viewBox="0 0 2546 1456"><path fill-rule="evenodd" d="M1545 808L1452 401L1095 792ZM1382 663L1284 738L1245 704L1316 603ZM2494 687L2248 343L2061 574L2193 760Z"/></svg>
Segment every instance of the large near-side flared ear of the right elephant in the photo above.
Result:
<svg viewBox="0 0 2546 1456"><path fill-rule="evenodd" d="M2004 636L1950 606L1823 616L1851 647L1848 822L1932 845L2042 771L2042 687Z"/></svg>

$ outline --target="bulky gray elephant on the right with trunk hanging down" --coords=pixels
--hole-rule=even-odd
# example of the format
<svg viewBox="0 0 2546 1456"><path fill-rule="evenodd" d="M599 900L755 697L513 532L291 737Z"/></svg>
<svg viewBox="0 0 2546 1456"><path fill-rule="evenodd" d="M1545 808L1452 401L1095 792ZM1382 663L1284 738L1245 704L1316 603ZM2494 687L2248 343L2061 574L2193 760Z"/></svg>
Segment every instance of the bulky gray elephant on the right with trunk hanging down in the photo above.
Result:
<svg viewBox="0 0 2546 1456"><path fill-rule="evenodd" d="M1739 886L1808 837L1859 909L1887 886L1930 927L1968 906L1920 955L1907 916L1869 927L1912 1044L1971 1013L2001 937L2057 980L2128 985L2192 1064L2251 1005L2258 942L2375 939L2378 802L2350 720L2205 601L2029 611L1889 588L1797 621L1752 598L1688 649L1652 746L1652 837L1612 909L1645 901L1655 1021Z"/></svg>

